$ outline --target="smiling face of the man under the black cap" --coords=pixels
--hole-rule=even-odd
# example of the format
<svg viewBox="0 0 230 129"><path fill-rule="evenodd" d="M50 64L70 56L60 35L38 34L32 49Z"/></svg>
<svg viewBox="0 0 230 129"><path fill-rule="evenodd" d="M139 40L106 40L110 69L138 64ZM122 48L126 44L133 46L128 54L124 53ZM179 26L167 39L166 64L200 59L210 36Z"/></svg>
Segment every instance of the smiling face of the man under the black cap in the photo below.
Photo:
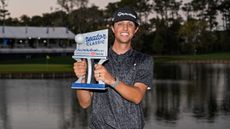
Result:
<svg viewBox="0 0 230 129"><path fill-rule="evenodd" d="M132 21L118 21L112 26L115 40L119 43L131 43L138 27Z"/></svg>

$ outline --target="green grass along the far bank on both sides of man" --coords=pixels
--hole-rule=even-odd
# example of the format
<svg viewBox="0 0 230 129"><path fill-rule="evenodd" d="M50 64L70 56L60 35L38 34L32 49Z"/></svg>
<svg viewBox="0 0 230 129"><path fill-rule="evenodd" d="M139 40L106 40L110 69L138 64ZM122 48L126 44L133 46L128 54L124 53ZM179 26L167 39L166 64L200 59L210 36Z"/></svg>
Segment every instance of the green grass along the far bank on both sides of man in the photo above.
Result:
<svg viewBox="0 0 230 129"><path fill-rule="evenodd" d="M156 63L186 60L228 60L230 53L212 53L202 55L180 56L154 56ZM24 60L1 60L0 73L35 73L35 72L72 72L74 60L70 56L24 59Z"/></svg>

